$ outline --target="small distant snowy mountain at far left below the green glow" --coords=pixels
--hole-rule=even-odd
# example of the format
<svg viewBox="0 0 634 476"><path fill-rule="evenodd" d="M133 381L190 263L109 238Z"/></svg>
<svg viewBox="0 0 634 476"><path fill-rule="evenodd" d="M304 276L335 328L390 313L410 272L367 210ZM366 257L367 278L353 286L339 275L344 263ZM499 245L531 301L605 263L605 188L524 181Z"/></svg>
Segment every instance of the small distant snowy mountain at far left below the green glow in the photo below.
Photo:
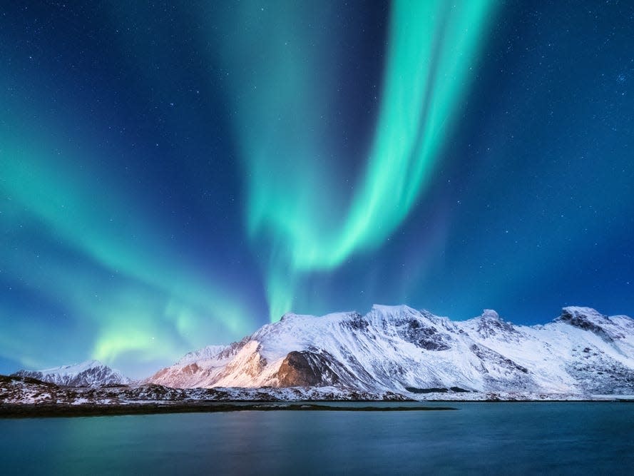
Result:
<svg viewBox="0 0 634 476"><path fill-rule="evenodd" d="M101 387L103 385L128 385L132 381L118 370L103 365L98 360L63 365L45 370L19 370L12 374L66 387Z"/></svg>

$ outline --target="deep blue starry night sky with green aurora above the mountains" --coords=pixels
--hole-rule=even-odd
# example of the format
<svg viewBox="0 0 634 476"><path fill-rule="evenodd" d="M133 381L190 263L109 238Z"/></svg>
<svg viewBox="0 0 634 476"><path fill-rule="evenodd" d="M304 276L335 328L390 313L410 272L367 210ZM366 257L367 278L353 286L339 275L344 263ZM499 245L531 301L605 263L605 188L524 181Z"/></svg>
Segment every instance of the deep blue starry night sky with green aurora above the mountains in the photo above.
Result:
<svg viewBox="0 0 634 476"><path fill-rule="evenodd" d="M630 1L75 3L0 7L0 373L634 315Z"/></svg>

